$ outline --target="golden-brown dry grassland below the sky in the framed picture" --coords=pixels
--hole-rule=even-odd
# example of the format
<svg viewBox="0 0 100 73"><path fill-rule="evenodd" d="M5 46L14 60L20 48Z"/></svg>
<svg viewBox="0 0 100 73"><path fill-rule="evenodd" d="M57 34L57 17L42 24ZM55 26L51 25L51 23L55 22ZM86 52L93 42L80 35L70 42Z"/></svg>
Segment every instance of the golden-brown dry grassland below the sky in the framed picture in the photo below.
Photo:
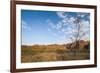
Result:
<svg viewBox="0 0 100 73"><path fill-rule="evenodd" d="M81 42L80 49L73 52L66 45L33 45L21 46L21 62L46 62L89 59L89 42Z"/></svg>

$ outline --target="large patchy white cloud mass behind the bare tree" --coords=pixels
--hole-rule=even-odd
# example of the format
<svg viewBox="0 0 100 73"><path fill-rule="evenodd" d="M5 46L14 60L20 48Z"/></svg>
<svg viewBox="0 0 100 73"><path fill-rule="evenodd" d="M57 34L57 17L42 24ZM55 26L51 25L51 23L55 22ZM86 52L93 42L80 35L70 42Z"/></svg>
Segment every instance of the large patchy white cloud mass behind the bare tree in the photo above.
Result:
<svg viewBox="0 0 100 73"><path fill-rule="evenodd" d="M65 38L66 36L67 40L75 40L76 39L75 36L78 33L77 30L78 23L75 23L75 21L77 20L77 16L83 18L85 17L85 14L78 13L76 16L68 16L67 14L65 14L65 12L57 12L57 15L58 17L61 18L61 20L58 21L56 24L54 24L52 21L49 20L48 23L50 27L56 30L58 35L60 33L63 33L62 38ZM85 36L82 36L82 39L87 40L89 38L90 22L89 20L80 19L79 24L80 24L79 36L82 36L82 34L85 33ZM55 33L52 34L57 35Z"/></svg>

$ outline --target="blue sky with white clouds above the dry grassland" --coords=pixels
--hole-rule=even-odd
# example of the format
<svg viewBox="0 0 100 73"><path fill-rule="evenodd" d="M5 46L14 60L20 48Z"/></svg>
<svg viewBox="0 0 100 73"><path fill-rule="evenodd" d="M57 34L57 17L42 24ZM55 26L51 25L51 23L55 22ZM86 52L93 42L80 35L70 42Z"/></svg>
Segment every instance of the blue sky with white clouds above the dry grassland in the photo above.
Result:
<svg viewBox="0 0 100 73"><path fill-rule="evenodd" d="M22 45L70 42L76 17L83 24L82 31L88 31L83 39L89 39L90 13L21 10Z"/></svg>

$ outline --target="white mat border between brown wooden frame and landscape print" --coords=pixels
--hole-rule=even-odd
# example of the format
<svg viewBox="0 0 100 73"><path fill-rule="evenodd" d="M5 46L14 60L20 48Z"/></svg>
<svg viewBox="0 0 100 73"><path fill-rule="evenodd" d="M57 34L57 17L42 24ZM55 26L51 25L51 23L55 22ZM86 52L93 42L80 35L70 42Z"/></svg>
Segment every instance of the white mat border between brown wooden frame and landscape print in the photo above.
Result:
<svg viewBox="0 0 100 73"><path fill-rule="evenodd" d="M90 60L78 61L57 61L57 62L38 62L38 63L21 63L21 9L26 10L44 10L44 11L70 11L70 12L89 12L90 13ZM91 42L92 41L92 42ZM94 64L94 9L71 8L71 7L52 7L37 5L16 5L16 68L40 68L55 66L75 66Z"/></svg>

